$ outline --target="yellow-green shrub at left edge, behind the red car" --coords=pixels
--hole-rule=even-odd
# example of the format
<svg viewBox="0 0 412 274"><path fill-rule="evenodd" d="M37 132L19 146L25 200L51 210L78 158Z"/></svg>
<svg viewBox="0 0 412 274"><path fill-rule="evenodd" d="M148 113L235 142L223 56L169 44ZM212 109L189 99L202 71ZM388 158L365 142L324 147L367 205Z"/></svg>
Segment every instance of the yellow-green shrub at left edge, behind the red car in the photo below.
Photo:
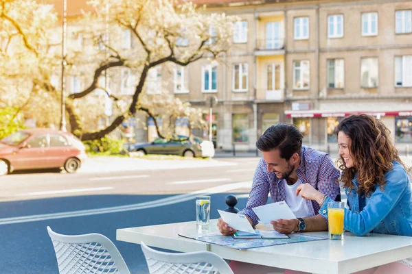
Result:
<svg viewBox="0 0 412 274"><path fill-rule="evenodd" d="M16 108L0 108L0 139L23 128L23 116Z"/></svg>

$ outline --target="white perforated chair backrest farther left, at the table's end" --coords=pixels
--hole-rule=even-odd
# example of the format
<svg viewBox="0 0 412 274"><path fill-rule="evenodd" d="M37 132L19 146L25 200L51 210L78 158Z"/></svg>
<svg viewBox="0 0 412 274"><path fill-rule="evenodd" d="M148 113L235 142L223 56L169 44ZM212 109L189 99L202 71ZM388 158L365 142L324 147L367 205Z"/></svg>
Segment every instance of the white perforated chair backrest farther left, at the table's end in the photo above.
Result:
<svg viewBox="0 0 412 274"><path fill-rule="evenodd" d="M60 274L130 274L119 250L102 234L62 235L47 227Z"/></svg>

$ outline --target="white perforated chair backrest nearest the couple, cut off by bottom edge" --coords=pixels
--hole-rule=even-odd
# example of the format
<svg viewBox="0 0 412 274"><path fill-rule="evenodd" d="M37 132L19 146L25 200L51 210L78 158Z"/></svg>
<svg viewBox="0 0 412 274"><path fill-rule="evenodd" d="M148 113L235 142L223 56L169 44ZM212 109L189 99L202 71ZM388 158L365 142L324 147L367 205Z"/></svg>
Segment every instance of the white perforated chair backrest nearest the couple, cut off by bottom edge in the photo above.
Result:
<svg viewBox="0 0 412 274"><path fill-rule="evenodd" d="M229 265L209 251L168 253L151 249L140 242L150 274L233 274Z"/></svg>

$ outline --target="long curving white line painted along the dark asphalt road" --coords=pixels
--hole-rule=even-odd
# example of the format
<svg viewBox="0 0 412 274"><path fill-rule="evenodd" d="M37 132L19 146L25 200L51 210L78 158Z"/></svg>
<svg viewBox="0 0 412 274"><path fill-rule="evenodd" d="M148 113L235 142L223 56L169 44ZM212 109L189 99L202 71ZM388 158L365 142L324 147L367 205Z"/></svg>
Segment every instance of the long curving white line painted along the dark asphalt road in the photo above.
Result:
<svg viewBox="0 0 412 274"><path fill-rule="evenodd" d="M97 208L93 210L77 210L70 212L50 213L50 214L38 214L30 216L19 216L0 219L0 225L8 225L12 223L29 223L35 221L45 221L52 219L72 218L78 216L90 216L97 214L125 212L130 210L143 210L146 208L156 208L158 206L168 206L173 203L181 203L183 201L190 201L198 195L211 195L221 192L227 192L229 190L235 190L238 188L250 188L251 182L238 182L233 184L225 184L223 186L216 186L214 188L207 188L205 190L197 190L190 193L181 195L174 195L172 197L163 198L155 201L148 201L144 203L135 203L126 206L113 206L111 208Z"/></svg>

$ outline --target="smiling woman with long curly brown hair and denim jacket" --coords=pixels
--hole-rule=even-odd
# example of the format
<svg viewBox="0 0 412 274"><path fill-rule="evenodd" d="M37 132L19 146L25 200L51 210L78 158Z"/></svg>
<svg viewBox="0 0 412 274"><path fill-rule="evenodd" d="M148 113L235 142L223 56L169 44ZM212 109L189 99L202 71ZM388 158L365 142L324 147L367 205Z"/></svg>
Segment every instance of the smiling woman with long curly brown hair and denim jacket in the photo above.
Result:
<svg viewBox="0 0 412 274"><path fill-rule="evenodd" d="M363 236L369 232L412 236L412 193L409 173L391 142L390 132L373 116L346 117L336 127L342 170L341 182L347 195L345 230ZM328 216L328 202L309 184L297 195L321 204ZM361 273L412 273L412 258Z"/></svg>

